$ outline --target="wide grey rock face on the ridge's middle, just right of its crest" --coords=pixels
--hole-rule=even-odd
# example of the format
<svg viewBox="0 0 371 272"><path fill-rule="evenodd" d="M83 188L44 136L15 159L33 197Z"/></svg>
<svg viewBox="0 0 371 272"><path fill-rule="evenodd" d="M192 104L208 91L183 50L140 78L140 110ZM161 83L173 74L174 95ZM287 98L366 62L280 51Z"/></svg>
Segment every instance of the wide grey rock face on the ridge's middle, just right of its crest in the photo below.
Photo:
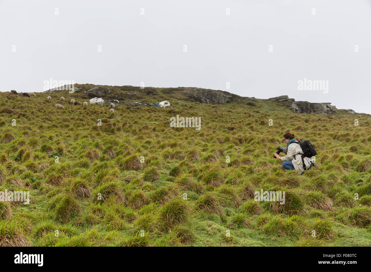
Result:
<svg viewBox="0 0 371 272"><path fill-rule="evenodd" d="M232 95L227 95L222 92L193 88L189 92L184 93L191 101L207 103L207 104L224 104L232 101Z"/></svg>

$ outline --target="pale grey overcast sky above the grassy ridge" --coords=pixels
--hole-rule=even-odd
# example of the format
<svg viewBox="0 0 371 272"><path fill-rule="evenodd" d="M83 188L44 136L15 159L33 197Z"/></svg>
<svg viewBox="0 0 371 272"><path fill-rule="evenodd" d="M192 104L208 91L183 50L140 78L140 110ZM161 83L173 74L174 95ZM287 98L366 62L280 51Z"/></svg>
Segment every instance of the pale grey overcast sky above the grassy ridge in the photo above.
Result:
<svg viewBox="0 0 371 272"><path fill-rule="evenodd" d="M0 0L1 91L144 82L371 114L370 30L370 0Z"/></svg>

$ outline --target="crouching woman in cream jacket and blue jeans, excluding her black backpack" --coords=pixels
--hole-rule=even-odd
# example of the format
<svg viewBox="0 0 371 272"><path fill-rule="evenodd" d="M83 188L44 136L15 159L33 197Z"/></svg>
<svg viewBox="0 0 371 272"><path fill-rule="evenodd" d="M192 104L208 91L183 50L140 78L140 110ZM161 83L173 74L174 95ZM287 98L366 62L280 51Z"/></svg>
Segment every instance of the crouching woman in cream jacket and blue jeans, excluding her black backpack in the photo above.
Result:
<svg viewBox="0 0 371 272"><path fill-rule="evenodd" d="M286 133L283 135L283 142L287 144L287 147L283 150L286 156L281 157L275 153L276 158L279 158L283 161L282 167L288 170L297 170L304 174L304 167L302 163L303 151L300 147L300 143L296 140L294 134ZM313 159L309 157L304 157L304 163L306 169L308 170L313 166Z"/></svg>

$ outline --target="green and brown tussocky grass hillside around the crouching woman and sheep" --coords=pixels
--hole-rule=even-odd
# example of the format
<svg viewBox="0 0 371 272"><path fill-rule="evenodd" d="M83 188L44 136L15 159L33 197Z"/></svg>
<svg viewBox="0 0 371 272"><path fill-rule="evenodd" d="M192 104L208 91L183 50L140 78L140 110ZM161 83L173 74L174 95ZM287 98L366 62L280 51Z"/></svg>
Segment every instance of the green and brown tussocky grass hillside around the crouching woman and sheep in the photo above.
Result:
<svg viewBox="0 0 371 272"><path fill-rule="evenodd" d="M111 88L105 100L141 91ZM126 101L168 100L173 108L110 113L108 105L84 108L83 93L0 93L0 191L30 191L31 199L0 202L1 245L371 245L370 115L294 114L267 100L210 105L173 88L143 91ZM201 117L201 130L171 128L177 114ZM272 158L286 132L316 147L305 175ZM285 204L254 201L260 189L285 191Z"/></svg>

